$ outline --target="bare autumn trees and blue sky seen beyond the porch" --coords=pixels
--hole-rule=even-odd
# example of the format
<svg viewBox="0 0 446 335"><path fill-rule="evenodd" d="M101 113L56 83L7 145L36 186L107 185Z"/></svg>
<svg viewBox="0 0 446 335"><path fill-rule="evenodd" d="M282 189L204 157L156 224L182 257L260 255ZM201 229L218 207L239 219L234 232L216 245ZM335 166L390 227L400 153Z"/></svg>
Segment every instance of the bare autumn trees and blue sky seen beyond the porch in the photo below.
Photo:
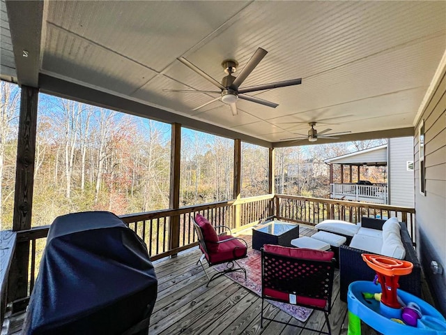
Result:
<svg viewBox="0 0 446 335"><path fill-rule="evenodd" d="M9 229L20 89L2 81L0 90L0 217ZM75 211L169 208L170 142L169 124L40 94L32 225ZM324 159L381 143L276 149L276 192L327 195ZM183 128L180 164L180 205L233 198L233 140ZM241 195L266 193L268 149L243 143Z"/></svg>

